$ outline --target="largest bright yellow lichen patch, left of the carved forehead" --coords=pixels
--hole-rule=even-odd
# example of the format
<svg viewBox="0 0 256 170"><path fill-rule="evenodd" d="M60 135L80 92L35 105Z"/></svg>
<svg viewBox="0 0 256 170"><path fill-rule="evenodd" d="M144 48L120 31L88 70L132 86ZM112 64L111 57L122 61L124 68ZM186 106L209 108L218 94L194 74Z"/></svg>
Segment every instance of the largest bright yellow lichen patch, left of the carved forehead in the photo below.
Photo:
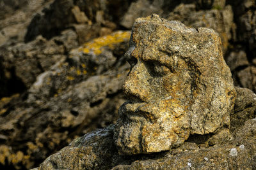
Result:
<svg viewBox="0 0 256 170"><path fill-rule="evenodd" d="M116 31L108 36L102 36L100 38L95 38L93 41L88 43L84 43L83 48L79 48L79 50L84 53L93 52L96 55L102 53L102 47L108 46L113 50L116 44L127 41L131 36L130 31Z"/></svg>

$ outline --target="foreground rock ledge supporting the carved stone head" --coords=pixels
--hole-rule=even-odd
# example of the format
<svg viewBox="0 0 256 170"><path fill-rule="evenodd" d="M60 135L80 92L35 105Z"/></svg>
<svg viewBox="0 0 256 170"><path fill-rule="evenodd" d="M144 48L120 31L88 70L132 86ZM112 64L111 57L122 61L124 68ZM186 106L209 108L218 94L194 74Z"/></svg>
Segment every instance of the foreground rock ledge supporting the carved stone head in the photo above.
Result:
<svg viewBox="0 0 256 170"><path fill-rule="evenodd" d="M114 126L109 125L72 141L38 169L255 169L256 108L250 105L255 94L244 88L236 90L235 113L230 115L230 128L236 130L231 134L223 129L214 135L192 135L168 152L123 156L113 145ZM241 119L234 116L240 114L238 110L252 110L254 115Z"/></svg>

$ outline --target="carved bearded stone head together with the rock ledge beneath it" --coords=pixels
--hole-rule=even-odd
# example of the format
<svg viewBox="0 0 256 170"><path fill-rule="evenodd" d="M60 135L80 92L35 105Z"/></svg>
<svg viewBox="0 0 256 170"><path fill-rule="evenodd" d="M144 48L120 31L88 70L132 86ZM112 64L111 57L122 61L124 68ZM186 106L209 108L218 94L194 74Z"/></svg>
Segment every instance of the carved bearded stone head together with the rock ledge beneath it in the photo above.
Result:
<svg viewBox="0 0 256 170"><path fill-rule="evenodd" d="M204 37L207 40L196 41L196 38L202 40ZM185 40L180 45L179 42L182 39ZM198 45L202 42L204 45ZM207 46L207 42L211 45ZM187 48L189 45L196 45L196 47ZM176 50L176 53L172 50ZM169 55L164 55L166 51L170 52ZM204 55L200 55L200 52ZM216 55L212 52L216 52ZM214 58L208 59L207 53ZM230 70L221 56L218 34L211 29L189 29L180 22L170 22L152 15L136 20L132 29L130 48L126 55L131 64L131 71L125 80L124 90L133 102L125 103L120 107L120 119L117 124L109 125L105 129L97 129L75 139L60 152L48 157L38 169L254 169L256 167L256 94L248 89L239 87L235 89L232 85ZM207 62L204 62L200 56L204 56ZM173 59L175 57L176 60ZM196 62L196 59L200 60ZM191 64L188 65L186 61L190 61ZM211 62L216 62L212 64L213 67L221 68L212 71ZM195 82L194 87L204 85L205 88L201 87L189 94L191 90L189 82L193 80L179 81L179 78L184 78L186 74L189 77L195 75L189 74L191 72L186 73L186 71L193 73L196 70L195 67L189 69L194 66L193 64L196 64L200 71L200 75L193 80L201 82ZM211 69L212 73L207 72L207 69ZM204 78L204 71L207 72L205 74L207 78ZM183 76L179 76L179 73ZM172 76L168 77L168 74ZM213 80L221 83L212 83L211 76ZM164 77L168 77L170 83L164 83ZM152 81L154 78L156 80ZM172 78L176 78L177 81L172 81ZM178 83L182 82L184 82L182 89L179 89ZM219 86L214 88L209 83ZM189 87L188 91L186 91L186 85ZM220 93L221 88L223 93ZM205 91L205 89L213 90L208 100L208 94L205 92L211 93L211 90ZM160 90L161 93L159 93ZM182 93L183 90L186 95ZM221 97L218 101L225 99L221 104L227 105L223 105L221 110L218 110L220 103L213 102L214 94ZM193 101L189 103L192 100L189 99L191 96ZM166 97L169 97L168 99L172 102L168 103ZM200 100L200 97L204 100ZM158 99L157 102L156 99ZM180 99L183 100L179 103ZM182 108L182 104L186 102L190 105ZM168 105L164 106L161 103L168 103ZM129 104L131 106L128 106ZM198 105L195 107L197 111L193 110L196 105ZM204 114L205 110L208 111ZM179 111L183 112L176 117ZM192 111L195 112L191 113ZM193 122L193 115L198 118L195 122ZM207 121L209 119L204 115L212 117L213 120L217 120L218 115L222 116L214 124L212 121ZM184 128L184 122L190 123L187 125L188 129ZM173 128L175 125L182 128L178 131ZM213 131L210 132L208 126L214 127ZM196 127L202 127L200 130L204 131L197 131ZM170 132L169 138L164 136L167 132ZM175 133L177 138L172 137ZM154 145L147 145L147 139L151 139ZM150 152L158 153L136 155Z"/></svg>

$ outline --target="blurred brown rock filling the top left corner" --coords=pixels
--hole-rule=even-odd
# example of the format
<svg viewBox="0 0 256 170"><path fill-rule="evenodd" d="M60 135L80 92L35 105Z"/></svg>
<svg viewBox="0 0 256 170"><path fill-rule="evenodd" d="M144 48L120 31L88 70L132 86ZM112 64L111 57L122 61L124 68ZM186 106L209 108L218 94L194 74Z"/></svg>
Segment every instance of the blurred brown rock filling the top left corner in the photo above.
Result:
<svg viewBox="0 0 256 170"><path fill-rule="evenodd" d="M11 0L0 4L0 46L22 42L35 12L44 9L52 0Z"/></svg>

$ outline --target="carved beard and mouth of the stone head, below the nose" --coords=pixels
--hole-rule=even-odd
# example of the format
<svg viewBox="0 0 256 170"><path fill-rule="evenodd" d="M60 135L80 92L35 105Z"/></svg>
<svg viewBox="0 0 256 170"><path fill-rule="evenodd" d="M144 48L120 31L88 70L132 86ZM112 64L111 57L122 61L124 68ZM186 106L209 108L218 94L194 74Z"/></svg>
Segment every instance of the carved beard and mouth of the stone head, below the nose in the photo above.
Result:
<svg viewBox="0 0 256 170"><path fill-rule="evenodd" d="M139 107L132 109L136 110L134 112L129 110L127 105ZM166 112L161 114L159 120L154 119L152 122L145 117L145 110L140 111L141 105L143 103L124 103L118 111L120 118L116 124L114 139L120 154L161 152L162 150L169 150L170 147L179 146L184 143L185 139L188 139L188 118L179 117L177 122L175 114ZM148 114L150 115L150 113ZM184 124L183 126L180 126L181 122Z"/></svg>

